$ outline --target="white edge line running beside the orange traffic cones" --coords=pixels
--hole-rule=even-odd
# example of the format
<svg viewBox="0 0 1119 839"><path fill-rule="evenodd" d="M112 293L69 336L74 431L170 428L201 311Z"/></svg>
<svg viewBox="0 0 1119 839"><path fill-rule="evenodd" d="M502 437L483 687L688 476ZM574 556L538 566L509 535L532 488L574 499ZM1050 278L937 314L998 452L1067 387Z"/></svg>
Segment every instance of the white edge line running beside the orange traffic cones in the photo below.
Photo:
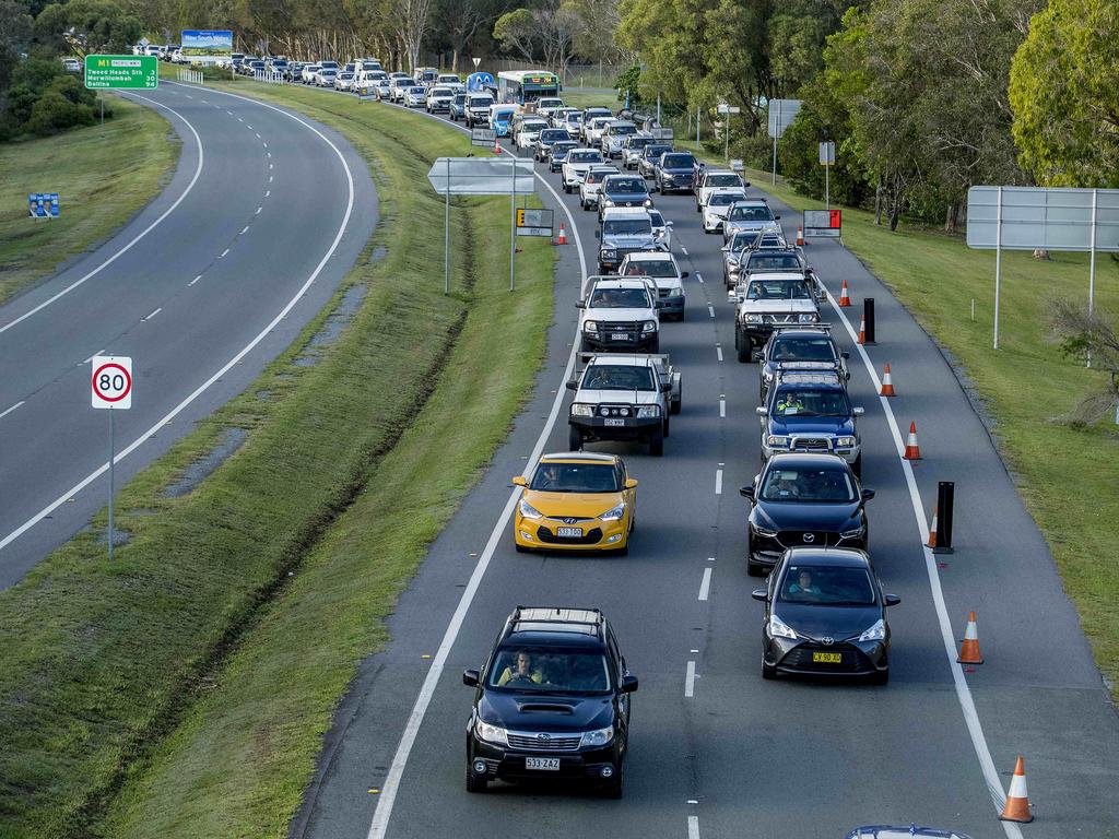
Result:
<svg viewBox="0 0 1119 839"><path fill-rule="evenodd" d="M846 313L839 308L838 302L831 295L830 291L828 292L828 302L843 321L847 334L850 336L850 340L863 359L863 365L866 367L867 374L871 376L875 392L882 390L882 381L878 379L878 374L871 362L871 357L867 355L866 348L858 342L858 333L852 327L850 321L847 320ZM897 421L894 418L894 412L890 406L888 398L880 396L878 403L886 415L886 423L890 425L890 433L894 439L897 460L901 462L902 473L905 475L905 483L909 487L910 502L913 505L913 516L916 519L918 537L921 544L924 545L929 534L929 522L924 517L924 507L921 503L921 493L916 488L916 478L913 475L913 465L902 456L905 453L905 444L903 443L902 434L897 427ZM948 656L948 667L952 672L952 681L956 685L956 697L959 699L960 710L963 713L963 722L967 723L971 745L975 747L976 757L979 760L979 769L982 771L984 781L987 783L987 792L995 804L995 811L1002 812L1003 807L1006 804L1006 793L1003 791L1003 782L999 780L998 771L995 769L995 761L990 756L990 747L987 745L987 738L982 733L979 711L976 710L975 700L971 698L971 689L968 687L967 679L963 678L963 668L956 661L956 635L952 632L952 623L948 616L948 606L944 603L944 592L940 585L940 572L937 569L937 560L932 554L932 548L925 546L922 547L922 552L924 553L924 567L929 575L929 587L932 590L932 602L937 607L937 618L940 623L940 635L944 642L944 652ZM1000 821L999 823L1003 826L1003 830L1006 832L1008 839L1022 839L1022 830L1015 822Z"/></svg>

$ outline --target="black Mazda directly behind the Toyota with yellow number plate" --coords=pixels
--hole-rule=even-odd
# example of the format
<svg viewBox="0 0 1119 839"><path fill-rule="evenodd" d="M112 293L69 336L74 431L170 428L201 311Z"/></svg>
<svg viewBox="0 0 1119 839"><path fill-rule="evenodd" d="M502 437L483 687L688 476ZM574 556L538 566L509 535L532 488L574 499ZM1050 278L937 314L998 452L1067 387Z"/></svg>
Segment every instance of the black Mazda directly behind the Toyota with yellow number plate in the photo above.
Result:
<svg viewBox="0 0 1119 839"><path fill-rule="evenodd" d="M774 454L740 493L752 508L746 525L746 571L761 576L788 548L866 549L865 505L874 490L862 489L836 454Z"/></svg>

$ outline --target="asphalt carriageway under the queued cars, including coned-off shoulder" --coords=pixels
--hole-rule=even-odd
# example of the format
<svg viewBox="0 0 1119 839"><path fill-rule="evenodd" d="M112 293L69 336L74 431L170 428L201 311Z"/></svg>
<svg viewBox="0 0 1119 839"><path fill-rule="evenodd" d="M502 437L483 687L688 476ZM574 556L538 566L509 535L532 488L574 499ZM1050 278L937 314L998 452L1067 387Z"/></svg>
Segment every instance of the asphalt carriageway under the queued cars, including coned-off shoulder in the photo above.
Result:
<svg viewBox="0 0 1119 839"><path fill-rule="evenodd" d="M595 257L594 214L562 195L558 176L537 172L537 194L572 238L547 361L401 598L392 643L363 662L292 835L822 838L914 821L976 839L1119 836L1119 726L1045 543L935 343L837 243L810 246L818 274L833 294L846 279L856 305L873 296L877 308L878 343L865 349L857 314L852 324L846 313L857 310L828 305L825 320L852 353L853 402L867 409L871 552L902 596L888 686L761 678L762 606L750 597L759 581L745 571L737 494L760 462L758 368L735 360L721 238L703 234L692 196L657 197L690 271L687 318L661 337L684 373L683 413L664 458L590 446L621 453L640 480L630 554L514 552L509 479L566 449L574 303ZM774 206L791 235L797 214ZM875 380L886 362L897 388L888 402ZM901 459L910 421L923 453L912 465ZM957 488L947 557L923 547L939 480ZM461 672L481 663L517 604L599 606L610 618L641 680L622 801L580 788L463 789L471 691ZM955 657L972 609L986 663L965 671ZM997 820L1018 754L1037 817L1022 827Z"/></svg>

